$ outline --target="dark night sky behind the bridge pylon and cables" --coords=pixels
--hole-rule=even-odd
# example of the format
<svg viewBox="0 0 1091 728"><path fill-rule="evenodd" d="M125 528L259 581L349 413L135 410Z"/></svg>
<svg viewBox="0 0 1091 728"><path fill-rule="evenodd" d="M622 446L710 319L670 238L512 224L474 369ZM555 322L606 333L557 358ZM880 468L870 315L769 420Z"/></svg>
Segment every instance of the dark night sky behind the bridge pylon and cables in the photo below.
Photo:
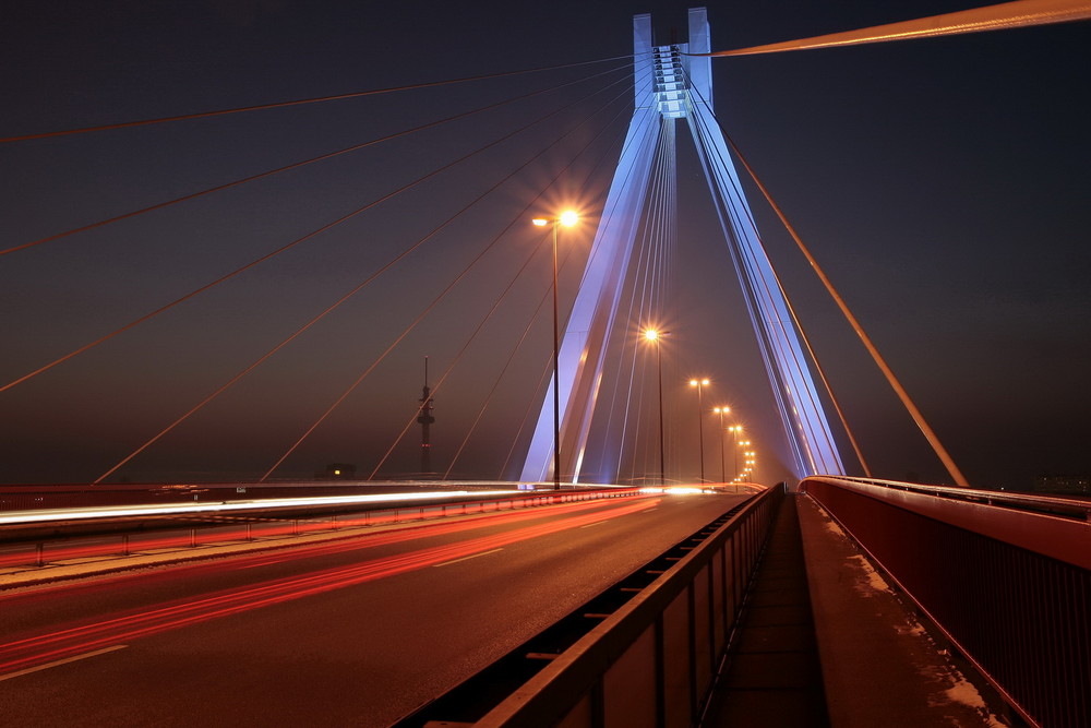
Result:
<svg viewBox="0 0 1091 728"><path fill-rule="evenodd" d="M0 136L615 60L0 144L0 248L7 249L585 79L0 256L2 386L539 121L0 393L0 482L94 480L441 225L420 249L111 479L260 477L493 240L274 477L307 477L331 462L369 473L415 415L425 355L433 383L453 367L436 394L433 466L446 468L492 391L452 477L499 477L514 433L542 396L538 383L550 346L547 310L525 331L549 290L548 250L526 218L574 202L594 220L628 120L623 57L632 52L632 16L651 12L664 34L657 41L664 43L671 26L684 37L687 7L620 0L7 3ZM967 7L766 0L709 3L708 14L714 49L729 49ZM1040 475L1091 473L1088 48L1091 24L1077 23L714 60L716 109L727 132L975 486L1028 488ZM594 74L601 75L588 80ZM577 127L580 120L586 123ZM562 133L556 146L515 172ZM679 443L692 441L687 428L696 429L683 379L700 373L714 380L706 404L731 404L755 433L759 478L771 482L786 477L777 465L784 452L778 418L686 136L680 134L676 307L666 322L675 443L669 469L694 475L683 463L692 457L687 445ZM555 175L559 182L550 186ZM875 475L949 481L750 189L769 255ZM585 224L568 234L563 300L571 301L592 231ZM512 281L511 297L459 357ZM417 437L410 429L382 473L415 469ZM842 456L860 473L847 443Z"/></svg>

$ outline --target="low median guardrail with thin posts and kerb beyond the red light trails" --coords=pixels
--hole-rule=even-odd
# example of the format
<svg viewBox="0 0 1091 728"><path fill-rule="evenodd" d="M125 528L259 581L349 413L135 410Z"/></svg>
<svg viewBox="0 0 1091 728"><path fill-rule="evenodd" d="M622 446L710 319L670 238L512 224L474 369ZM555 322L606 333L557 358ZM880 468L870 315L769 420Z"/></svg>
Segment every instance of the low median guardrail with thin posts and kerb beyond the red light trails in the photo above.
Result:
<svg viewBox="0 0 1091 728"><path fill-rule="evenodd" d="M511 496L476 499L472 494L455 496L448 502L401 502L384 508L360 511L365 504L347 504L343 499L332 498L326 506L310 506L317 513L311 517L300 517L298 503L284 503L277 508L273 502L254 502L249 510L232 510L232 518L245 520L248 516L263 516L254 523L233 523L231 525L203 525L200 527L187 524L184 530L176 534L163 533L166 529L179 530L179 516L185 515L187 504L165 506L158 516L146 514L139 516L111 515L84 521L64 521L64 513L58 512L55 522L28 522L20 525L19 513L9 513L0 521L11 520L10 525L0 527L0 542L8 541L0 551L0 570L15 568L44 568L49 563L70 559L88 559L97 557L129 557L140 551L156 549L157 551L177 549L195 549L226 542L283 539L293 536L307 536L323 532L340 532L351 528L385 526L429 518L443 518L455 515L473 515L496 513L515 509L536 508L567 503L575 501L599 500L603 498L625 498L639 494L636 488L614 488L606 490L561 490L561 491L525 491L513 492ZM228 501L220 504L227 505ZM249 503L247 503L249 504ZM192 506L192 504L190 504ZM214 508L216 503L205 502L202 508ZM134 510L145 510L146 506L132 506ZM356 512L351 509L356 508ZM115 511L121 510L118 506ZM331 512L340 511L341 513ZM286 515L277 516L277 512ZM345 513L349 511L348 513ZM34 512L40 514L41 512ZM272 516L272 517L271 517ZM151 518L157 518L151 521ZM98 522L98 525L96 525ZM101 536L106 529L105 523L116 534L111 540L104 541ZM155 526L153 528L153 526ZM128 529L128 530L124 530ZM95 542L81 544L73 536L81 533L94 533ZM35 538L36 534L47 534L49 538ZM50 540L52 539L52 540Z"/></svg>

